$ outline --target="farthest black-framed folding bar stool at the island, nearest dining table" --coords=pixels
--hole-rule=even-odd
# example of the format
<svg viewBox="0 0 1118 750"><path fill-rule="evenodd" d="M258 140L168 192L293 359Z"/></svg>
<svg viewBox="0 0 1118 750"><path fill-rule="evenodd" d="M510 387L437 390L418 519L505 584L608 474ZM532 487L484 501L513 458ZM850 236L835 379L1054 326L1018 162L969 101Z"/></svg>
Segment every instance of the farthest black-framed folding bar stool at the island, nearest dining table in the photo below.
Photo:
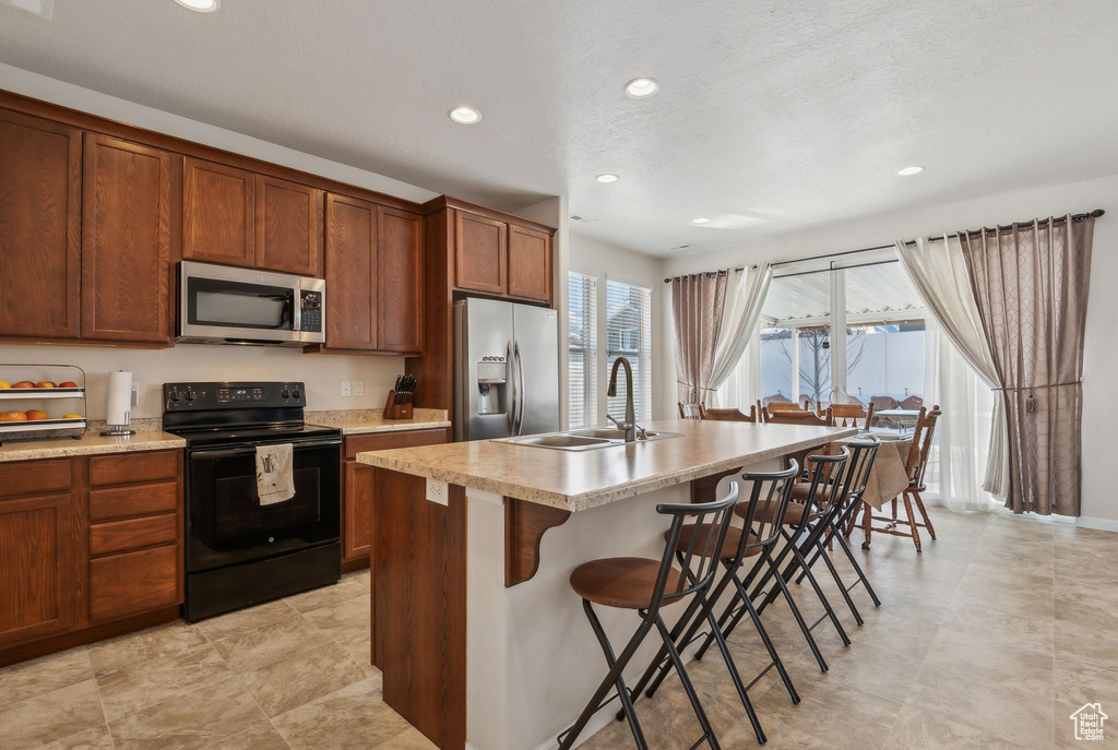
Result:
<svg viewBox="0 0 1118 750"><path fill-rule="evenodd" d="M881 439L878 437L869 436L864 440L859 440L855 443L849 443L847 447L851 452L851 458L846 464L846 476L840 477L840 496L835 503L830 507L822 509L818 520L815 522L823 529L823 535L813 535L814 538L814 556L807 562L807 568L802 570L799 578L796 582L799 583L804 580L806 576L806 570L811 569L812 566L822 557L823 561L827 566L832 578L834 578L835 583L839 585L840 590L842 590L843 599L846 600L846 606L850 607L851 614L854 615L854 620L862 625L862 615L859 613L858 607L854 605L854 600L851 598L851 590L862 583L865 586L866 592L869 592L870 598L873 600L874 607L881 606L881 600L878 598L877 592L873 587L870 586L869 579L865 577L865 572L862 570L862 566L858 563L858 559L854 557L854 552L850 549L850 544L846 543L846 528L850 520L853 518L854 513L858 511L858 506L862 501L862 495L865 494L865 486L870 481L870 472L873 471L873 459L878 455L878 448L881 447ZM805 485L797 485L797 487ZM806 495L805 490L797 491L793 490L793 497L797 494ZM846 559L850 560L851 564L854 567L854 572L858 575L858 580L846 586L845 581L839 575L839 570L835 568L834 563L831 561L831 556L828 550L831 549L832 542L837 540L839 545L846 553Z"/></svg>

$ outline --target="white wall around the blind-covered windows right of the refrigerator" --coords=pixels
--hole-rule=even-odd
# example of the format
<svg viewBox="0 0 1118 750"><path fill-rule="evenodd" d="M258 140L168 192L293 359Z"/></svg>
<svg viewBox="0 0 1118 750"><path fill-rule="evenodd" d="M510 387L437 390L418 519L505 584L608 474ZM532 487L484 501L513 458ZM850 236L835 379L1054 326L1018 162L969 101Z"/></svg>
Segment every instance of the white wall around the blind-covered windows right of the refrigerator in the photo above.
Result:
<svg viewBox="0 0 1118 750"><path fill-rule="evenodd" d="M664 401L665 383L670 383L675 380L674 369L670 370L672 374L667 380L665 380L662 374L664 361L669 363L670 368L674 368L675 365L672 363L674 354L672 352L670 335L666 338L667 348L665 349L663 344L665 341L665 334L662 330L662 307L665 298L665 286L663 283L664 275L661 267L663 265L661 259L604 243L599 239L579 234L578 231L570 232L569 244L569 269L575 273L596 276L600 284L599 294L605 293L605 282L610 278L618 282L625 282L627 284L646 286L652 289L652 414L654 419L663 419L665 416L673 415L675 411L674 401L671 404L671 411L663 411L661 408L661 405ZM563 298L566 301L566 274L563 275ZM598 304L599 348L604 346L606 341L606 306L603 300L599 300ZM560 317L566 320L566 306L563 307L562 315L560 315ZM566 336L566 331L563 331L563 335ZM605 383L608 382L608 378L605 370L606 360L603 357L599 358L598 362L598 390L600 391L598 398L599 425L605 424L606 421L606 399L604 398L604 393ZM562 368L561 377L563 379L563 391L566 392L566 365ZM674 393L674 389L669 390ZM565 417L567 415L566 408L563 409L563 415Z"/></svg>

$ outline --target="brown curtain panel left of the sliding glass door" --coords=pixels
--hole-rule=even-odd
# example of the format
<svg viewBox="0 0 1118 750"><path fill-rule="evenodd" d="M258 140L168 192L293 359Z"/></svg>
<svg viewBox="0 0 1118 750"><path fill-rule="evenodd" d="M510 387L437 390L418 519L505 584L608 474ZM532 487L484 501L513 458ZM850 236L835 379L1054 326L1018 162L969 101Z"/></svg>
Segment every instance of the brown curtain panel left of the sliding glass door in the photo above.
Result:
<svg viewBox="0 0 1118 750"><path fill-rule="evenodd" d="M672 279L675 319L675 381L682 404L704 400L714 369L714 345L726 310L728 274L692 274Z"/></svg>

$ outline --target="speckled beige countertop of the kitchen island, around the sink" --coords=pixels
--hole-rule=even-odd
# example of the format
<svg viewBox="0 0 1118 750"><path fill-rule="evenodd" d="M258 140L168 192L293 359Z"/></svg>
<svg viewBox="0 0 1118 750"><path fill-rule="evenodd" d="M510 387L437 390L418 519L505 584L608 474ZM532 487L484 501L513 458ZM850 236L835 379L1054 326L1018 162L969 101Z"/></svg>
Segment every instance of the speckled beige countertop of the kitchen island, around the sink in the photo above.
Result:
<svg viewBox="0 0 1118 750"><path fill-rule="evenodd" d="M858 434L854 427L669 419L650 430L683 437L593 450L474 440L359 453L370 466L568 511L683 484Z"/></svg>

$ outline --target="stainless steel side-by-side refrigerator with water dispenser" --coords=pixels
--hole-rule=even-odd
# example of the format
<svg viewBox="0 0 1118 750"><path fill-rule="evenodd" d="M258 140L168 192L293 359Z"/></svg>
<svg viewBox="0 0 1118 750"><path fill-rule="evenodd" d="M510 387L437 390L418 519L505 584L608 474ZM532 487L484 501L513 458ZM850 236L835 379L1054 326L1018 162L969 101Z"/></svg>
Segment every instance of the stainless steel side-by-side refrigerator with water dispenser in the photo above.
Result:
<svg viewBox="0 0 1118 750"><path fill-rule="evenodd" d="M494 300L454 303L454 439L559 429L559 316Z"/></svg>

